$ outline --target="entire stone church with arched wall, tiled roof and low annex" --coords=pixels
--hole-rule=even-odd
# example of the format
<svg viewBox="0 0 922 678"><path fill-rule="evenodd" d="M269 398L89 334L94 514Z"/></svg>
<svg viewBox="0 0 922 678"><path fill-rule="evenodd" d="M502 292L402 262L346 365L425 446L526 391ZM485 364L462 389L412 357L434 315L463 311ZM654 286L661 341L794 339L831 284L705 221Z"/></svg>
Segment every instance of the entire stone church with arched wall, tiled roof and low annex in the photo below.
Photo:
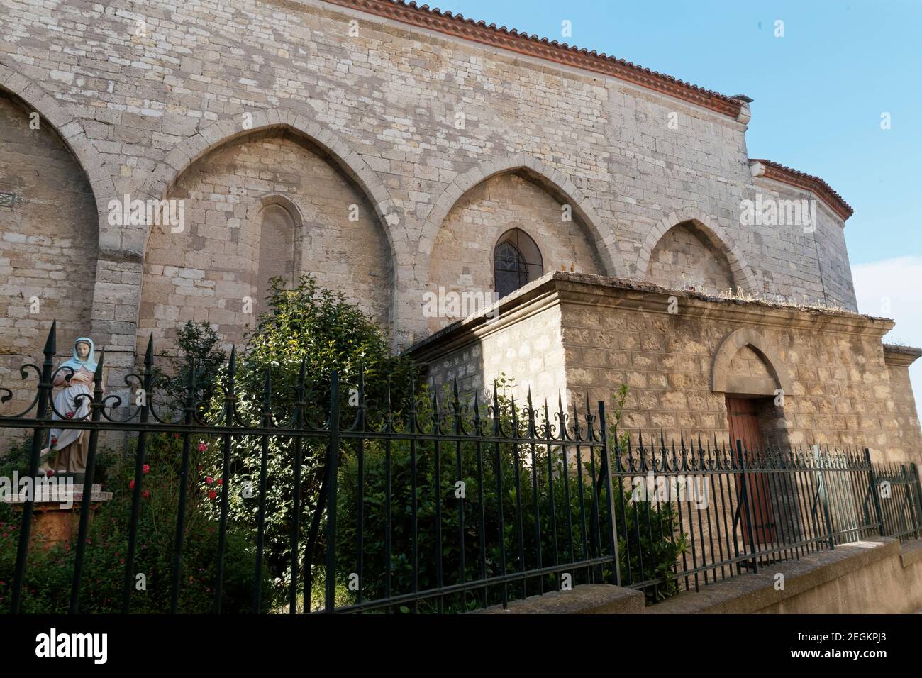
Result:
<svg viewBox="0 0 922 678"><path fill-rule="evenodd" d="M118 389L151 333L240 341L311 272L435 383L627 384L631 427L922 461L922 351L857 314L852 208L749 157L749 101L414 3L7 0L0 382L56 318ZM183 223L124 220L138 199Z"/></svg>

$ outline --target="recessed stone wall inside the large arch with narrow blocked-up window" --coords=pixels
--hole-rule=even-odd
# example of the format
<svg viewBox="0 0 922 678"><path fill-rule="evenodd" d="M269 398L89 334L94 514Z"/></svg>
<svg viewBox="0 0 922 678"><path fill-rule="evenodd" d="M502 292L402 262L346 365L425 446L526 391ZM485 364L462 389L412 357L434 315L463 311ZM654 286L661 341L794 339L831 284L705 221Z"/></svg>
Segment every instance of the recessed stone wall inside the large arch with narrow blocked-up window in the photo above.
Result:
<svg viewBox="0 0 922 678"><path fill-rule="evenodd" d="M285 196L292 232L261 237L266 196ZM169 345L188 320L208 322L226 341L240 341L264 307L269 275L311 272L343 291L383 327L391 300L389 247L364 196L310 142L280 131L247 135L196 161L170 193L183 199L187 227L151 233L145 257L138 343ZM349 220L355 206L355 220ZM272 224L269 224L270 228ZM297 261L292 249L297 242ZM264 249L269 250L266 255ZM291 275L287 276L291 280ZM244 309L250 300L249 311Z"/></svg>

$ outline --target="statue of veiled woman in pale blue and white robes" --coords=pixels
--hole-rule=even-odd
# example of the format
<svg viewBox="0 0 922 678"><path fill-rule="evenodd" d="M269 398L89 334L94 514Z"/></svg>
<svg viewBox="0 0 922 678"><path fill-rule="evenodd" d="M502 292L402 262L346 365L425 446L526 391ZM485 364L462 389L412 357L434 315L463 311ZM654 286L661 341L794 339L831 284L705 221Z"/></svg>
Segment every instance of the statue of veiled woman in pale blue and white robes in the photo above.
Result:
<svg viewBox="0 0 922 678"><path fill-rule="evenodd" d="M64 388L54 398L53 420L63 422L67 419L81 419L89 414L96 366L96 348L93 340L88 337L78 338L74 342L73 357L60 366L71 368L73 374L69 370L59 368L54 377L54 386ZM49 436L48 446L42 450L45 462L39 471L46 474L50 470L83 473L87 470L88 452L89 431L54 428Z"/></svg>

